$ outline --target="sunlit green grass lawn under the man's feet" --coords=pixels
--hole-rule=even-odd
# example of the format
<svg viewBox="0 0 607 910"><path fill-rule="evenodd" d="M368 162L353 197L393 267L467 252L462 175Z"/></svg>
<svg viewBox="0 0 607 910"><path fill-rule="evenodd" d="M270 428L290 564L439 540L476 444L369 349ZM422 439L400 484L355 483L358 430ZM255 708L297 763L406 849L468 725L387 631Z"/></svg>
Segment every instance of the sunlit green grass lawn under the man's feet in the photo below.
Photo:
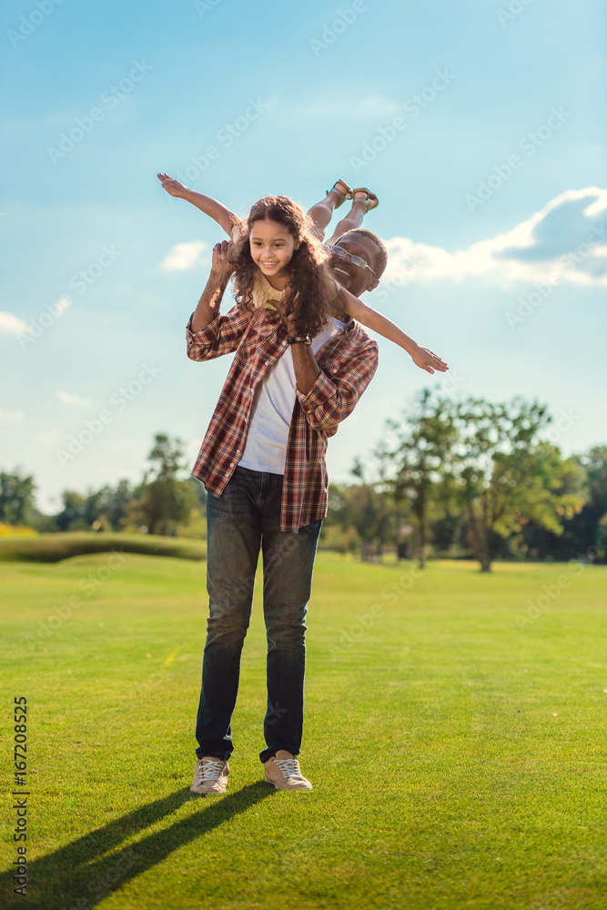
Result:
<svg viewBox="0 0 607 910"><path fill-rule="evenodd" d="M300 756L314 790L261 782L257 596L228 793L200 797L205 564L109 559L0 565L3 906L607 907L605 568L436 562L418 578L321 553ZM6 871L21 695L25 901Z"/></svg>

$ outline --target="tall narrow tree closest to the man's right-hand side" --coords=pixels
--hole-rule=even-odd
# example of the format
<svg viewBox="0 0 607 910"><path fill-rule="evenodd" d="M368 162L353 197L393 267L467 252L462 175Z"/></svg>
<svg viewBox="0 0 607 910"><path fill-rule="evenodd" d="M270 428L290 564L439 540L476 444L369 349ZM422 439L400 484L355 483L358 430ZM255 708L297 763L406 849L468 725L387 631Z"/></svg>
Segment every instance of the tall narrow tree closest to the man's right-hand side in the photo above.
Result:
<svg viewBox="0 0 607 910"><path fill-rule="evenodd" d="M430 506L445 500L452 482L451 451L457 440L455 417L456 409L450 399L423 389L415 413L405 416L401 424L388 421L393 434L391 445L383 442L376 450L384 489L391 490L397 506L409 502L420 569L426 564Z"/></svg>

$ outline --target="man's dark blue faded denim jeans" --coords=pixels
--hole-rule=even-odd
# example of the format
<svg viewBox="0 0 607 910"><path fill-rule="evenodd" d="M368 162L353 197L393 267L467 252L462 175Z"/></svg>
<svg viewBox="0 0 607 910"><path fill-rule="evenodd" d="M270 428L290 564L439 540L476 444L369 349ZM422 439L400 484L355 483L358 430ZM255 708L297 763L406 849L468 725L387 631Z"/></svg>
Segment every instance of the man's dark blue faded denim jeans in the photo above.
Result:
<svg viewBox="0 0 607 910"><path fill-rule="evenodd" d="M228 759L240 654L248 630L259 547L268 638L267 762L279 749L297 755L303 733L306 612L322 521L280 531L282 475L240 468L222 496L207 495L209 618L198 705L197 757Z"/></svg>

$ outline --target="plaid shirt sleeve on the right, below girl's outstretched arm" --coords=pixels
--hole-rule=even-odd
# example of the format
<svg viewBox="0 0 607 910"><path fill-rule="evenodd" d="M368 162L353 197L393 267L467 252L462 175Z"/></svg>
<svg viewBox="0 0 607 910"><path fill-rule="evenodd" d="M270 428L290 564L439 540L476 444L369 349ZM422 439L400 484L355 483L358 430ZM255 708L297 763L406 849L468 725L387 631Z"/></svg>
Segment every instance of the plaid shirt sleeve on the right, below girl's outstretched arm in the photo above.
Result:
<svg viewBox="0 0 607 910"><path fill-rule="evenodd" d="M330 379L321 369L308 394L297 389L299 404L312 430L323 430L328 436L337 432L373 379L378 362L378 345L368 339Z"/></svg>

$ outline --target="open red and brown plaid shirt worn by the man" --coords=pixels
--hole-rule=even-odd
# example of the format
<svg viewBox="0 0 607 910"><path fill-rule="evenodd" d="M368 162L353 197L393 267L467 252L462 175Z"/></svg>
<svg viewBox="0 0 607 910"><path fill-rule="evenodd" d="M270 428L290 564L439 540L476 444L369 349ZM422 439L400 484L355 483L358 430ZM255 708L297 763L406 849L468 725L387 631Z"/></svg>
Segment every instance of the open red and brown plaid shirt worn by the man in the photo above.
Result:
<svg viewBox="0 0 607 910"><path fill-rule="evenodd" d="M211 360L236 351L192 470L209 493L221 496L245 449L255 389L284 354L288 331L276 310L258 308L251 314L238 306L202 331L191 327L192 319L186 329L190 359ZM307 395L296 389L282 487L282 531L298 531L327 514L327 440L373 378L378 346L352 319L319 350L316 360L320 373L312 389Z"/></svg>

